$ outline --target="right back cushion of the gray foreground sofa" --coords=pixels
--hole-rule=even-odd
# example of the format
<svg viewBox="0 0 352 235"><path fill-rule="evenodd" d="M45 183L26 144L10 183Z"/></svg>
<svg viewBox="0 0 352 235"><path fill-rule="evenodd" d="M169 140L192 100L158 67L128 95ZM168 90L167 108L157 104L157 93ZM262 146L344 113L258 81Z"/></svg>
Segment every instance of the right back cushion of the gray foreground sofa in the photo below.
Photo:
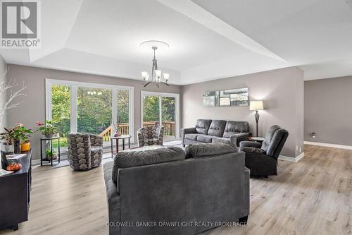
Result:
<svg viewBox="0 0 352 235"><path fill-rule="evenodd" d="M236 145L227 141L225 143L199 143L187 145L185 152L187 157L210 157L231 152L238 152Z"/></svg>

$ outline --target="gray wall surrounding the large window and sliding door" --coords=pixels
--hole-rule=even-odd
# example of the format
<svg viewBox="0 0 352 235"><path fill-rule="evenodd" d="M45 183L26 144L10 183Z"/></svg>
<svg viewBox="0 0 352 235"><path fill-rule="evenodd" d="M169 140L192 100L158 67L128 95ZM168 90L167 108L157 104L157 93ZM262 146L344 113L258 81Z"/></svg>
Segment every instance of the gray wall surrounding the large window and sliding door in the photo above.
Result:
<svg viewBox="0 0 352 235"><path fill-rule="evenodd" d="M45 78L59 80L73 80L87 83L101 83L111 85L127 85L134 87L134 132L141 126L141 90L156 92L180 93L181 87L177 85L161 86L160 89L151 84L146 88L142 88L142 80L130 80L124 78L113 78L107 76L95 76L84 73L73 73L67 71L58 71L46 68L34 68L29 66L10 65L8 78L12 78L16 83L25 82L27 90L26 97L23 97L23 103L20 107L8 112L7 125L13 126L15 123L23 123L29 128L36 129L37 121L45 120ZM180 107L181 108L181 107ZM32 147L34 149L33 158L40 158L41 134L36 133L32 136ZM137 141L135 136L134 141Z"/></svg>

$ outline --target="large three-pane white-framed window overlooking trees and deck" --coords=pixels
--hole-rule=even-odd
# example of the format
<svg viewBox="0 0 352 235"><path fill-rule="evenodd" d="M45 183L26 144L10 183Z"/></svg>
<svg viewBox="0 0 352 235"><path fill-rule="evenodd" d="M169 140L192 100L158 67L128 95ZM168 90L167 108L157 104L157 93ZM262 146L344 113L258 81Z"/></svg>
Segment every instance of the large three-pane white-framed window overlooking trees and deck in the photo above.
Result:
<svg viewBox="0 0 352 235"><path fill-rule="evenodd" d="M46 119L58 128L63 151L70 132L101 135L109 145L113 123L134 142L132 104L132 87L46 79Z"/></svg>

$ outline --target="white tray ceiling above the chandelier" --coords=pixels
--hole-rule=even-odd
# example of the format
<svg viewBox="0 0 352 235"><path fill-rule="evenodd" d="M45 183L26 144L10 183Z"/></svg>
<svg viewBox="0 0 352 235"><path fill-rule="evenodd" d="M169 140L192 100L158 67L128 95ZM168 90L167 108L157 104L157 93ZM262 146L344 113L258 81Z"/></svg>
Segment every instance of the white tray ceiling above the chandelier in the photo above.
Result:
<svg viewBox="0 0 352 235"><path fill-rule="evenodd" d="M352 75L352 0L43 0L41 49L6 62L141 79L158 65L184 85L300 66L307 80Z"/></svg>

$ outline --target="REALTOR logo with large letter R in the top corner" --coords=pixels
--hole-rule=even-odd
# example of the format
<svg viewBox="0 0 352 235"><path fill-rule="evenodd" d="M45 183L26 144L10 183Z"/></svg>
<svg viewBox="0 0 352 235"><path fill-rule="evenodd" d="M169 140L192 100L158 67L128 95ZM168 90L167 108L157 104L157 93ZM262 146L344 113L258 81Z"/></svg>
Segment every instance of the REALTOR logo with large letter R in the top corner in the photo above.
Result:
<svg viewBox="0 0 352 235"><path fill-rule="evenodd" d="M1 48L39 48L39 3L1 1Z"/></svg>

